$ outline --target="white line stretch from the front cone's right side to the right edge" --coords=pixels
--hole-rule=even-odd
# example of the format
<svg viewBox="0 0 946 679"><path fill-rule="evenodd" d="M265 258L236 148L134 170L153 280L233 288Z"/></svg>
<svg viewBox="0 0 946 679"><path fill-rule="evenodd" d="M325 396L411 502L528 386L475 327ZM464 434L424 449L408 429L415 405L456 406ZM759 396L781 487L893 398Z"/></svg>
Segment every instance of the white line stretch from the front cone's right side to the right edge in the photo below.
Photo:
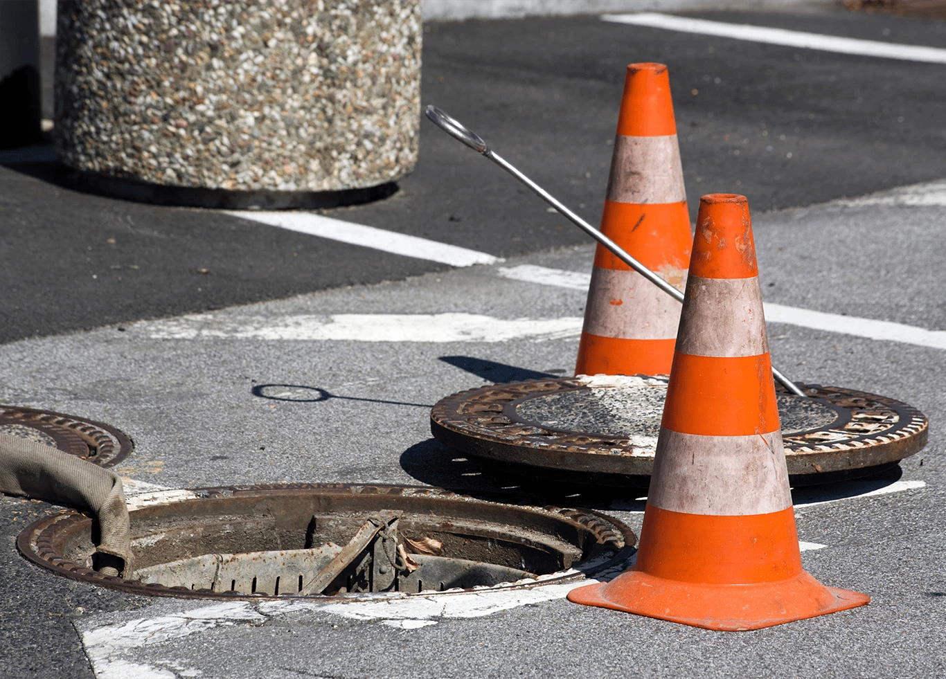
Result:
<svg viewBox="0 0 946 679"><path fill-rule="evenodd" d="M767 304L765 305L765 320L867 339L946 349L946 331L943 330L926 330L902 323L828 314L823 311L801 309L797 306Z"/></svg>

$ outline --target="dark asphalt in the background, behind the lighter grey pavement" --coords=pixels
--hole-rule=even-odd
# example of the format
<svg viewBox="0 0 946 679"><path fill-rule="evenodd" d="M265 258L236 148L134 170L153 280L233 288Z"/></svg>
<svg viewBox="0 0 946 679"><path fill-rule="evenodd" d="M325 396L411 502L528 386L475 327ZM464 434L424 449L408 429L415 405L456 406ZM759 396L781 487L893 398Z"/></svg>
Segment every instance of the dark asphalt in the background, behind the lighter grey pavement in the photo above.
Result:
<svg viewBox="0 0 946 679"><path fill-rule="evenodd" d="M892 44L946 45L946 22L877 14L706 13ZM624 66L660 61L671 86L688 199L744 193L756 212L943 174L943 65L750 43L597 17L425 27L422 100L463 121L596 224ZM695 94L693 94L695 93ZM791 157L789 157L791 154ZM354 283L443 265L212 211L63 188L55 162L2 158L6 322L0 340L44 336ZM587 236L499 167L426 120L420 160L388 200L325 211L347 221L509 256ZM199 273L198 271L207 271Z"/></svg>

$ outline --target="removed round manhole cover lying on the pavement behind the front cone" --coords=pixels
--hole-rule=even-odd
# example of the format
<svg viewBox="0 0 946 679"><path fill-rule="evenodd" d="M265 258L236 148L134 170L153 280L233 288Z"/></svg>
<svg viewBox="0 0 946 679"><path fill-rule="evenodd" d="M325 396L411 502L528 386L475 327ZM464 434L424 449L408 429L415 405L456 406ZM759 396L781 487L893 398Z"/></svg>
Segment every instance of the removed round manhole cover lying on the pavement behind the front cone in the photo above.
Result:
<svg viewBox="0 0 946 679"><path fill-rule="evenodd" d="M926 418L900 401L840 387L803 389L811 398L778 392L793 485L868 476L926 444ZM442 444L519 471L646 486L666 392L666 376L496 384L441 400L430 430Z"/></svg>

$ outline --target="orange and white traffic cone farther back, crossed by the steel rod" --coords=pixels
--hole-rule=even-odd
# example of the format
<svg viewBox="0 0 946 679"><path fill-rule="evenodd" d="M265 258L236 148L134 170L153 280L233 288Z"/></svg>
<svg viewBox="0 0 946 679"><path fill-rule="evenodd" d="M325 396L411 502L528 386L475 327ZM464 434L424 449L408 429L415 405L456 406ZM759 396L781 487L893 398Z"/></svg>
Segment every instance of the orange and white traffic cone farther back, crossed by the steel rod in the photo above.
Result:
<svg viewBox="0 0 946 679"><path fill-rule="evenodd" d="M690 217L662 63L632 63L624 78L601 230L683 289ZM575 374L668 374L680 304L599 245Z"/></svg>

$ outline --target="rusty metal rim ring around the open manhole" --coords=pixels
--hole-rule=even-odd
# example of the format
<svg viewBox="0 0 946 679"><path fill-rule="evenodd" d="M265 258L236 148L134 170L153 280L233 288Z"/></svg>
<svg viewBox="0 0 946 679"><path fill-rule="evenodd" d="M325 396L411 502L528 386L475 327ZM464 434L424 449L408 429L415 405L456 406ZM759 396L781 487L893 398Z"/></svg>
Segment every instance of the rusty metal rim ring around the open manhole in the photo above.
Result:
<svg viewBox="0 0 946 679"><path fill-rule="evenodd" d="M468 588L451 588L443 591L423 590L421 592L377 592L363 594L340 594L340 595L298 595L298 594L280 594L271 595L267 593L246 594L234 591L211 591L207 589L191 590L185 587L170 587L159 583L142 583L136 580L125 580L123 578L102 575L87 566L82 566L61 554L53 548L53 540L58 532L76 527L77 524L84 524L94 520L88 512L79 512L75 509L64 509L54 514L46 515L32 522L20 532L16 539L16 546L20 553L33 564L49 570L57 575L76 580L83 583L94 584L109 589L117 589L129 594L139 594L144 596L162 596L176 599L205 599L205 600L227 600L227 601L367 601L369 599L402 599L411 597L432 597L463 594L469 592L500 591L510 589L525 589L548 584L568 583L572 581L586 580L594 573L604 572L614 569L616 566L625 563L635 552L637 545L637 535L620 519L613 516L595 512L593 510L577 510L559 507L538 507L528 504L511 504L503 502L500 498L496 501L483 500L476 497L464 496L458 493L452 493L443 489L431 488L425 486L401 486L394 484L347 484L347 483L286 483L286 484L259 484L259 485L239 485L196 488L192 490L168 490L158 491L141 496L131 496L129 498L129 513L148 509L155 506L166 506L178 503L201 502L207 499L219 497L258 494L260 496L272 495L272 492L279 491L349 491L352 495L377 495L379 497L391 497L401 495L402 493L392 493L392 491L404 492L410 496L424 495L442 499L462 499L464 501L480 503L487 506L507 507L529 512L538 512L542 514L555 514L558 518L571 523L580 524L585 530L594 534L605 545L611 545L610 549L603 548L604 553L589 558L586 562L579 562L577 565L593 565L587 572L577 570L575 565L568 569L555 571L553 573L538 575L534 580L517 581L510 583L497 583L493 585L477 585ZM506 497L508 500L508 497ZM582 521L579 517L587 518ZM611 537L608 537L609 533ZM613 550L610 557L606 556L608 551Z"/></svg>

